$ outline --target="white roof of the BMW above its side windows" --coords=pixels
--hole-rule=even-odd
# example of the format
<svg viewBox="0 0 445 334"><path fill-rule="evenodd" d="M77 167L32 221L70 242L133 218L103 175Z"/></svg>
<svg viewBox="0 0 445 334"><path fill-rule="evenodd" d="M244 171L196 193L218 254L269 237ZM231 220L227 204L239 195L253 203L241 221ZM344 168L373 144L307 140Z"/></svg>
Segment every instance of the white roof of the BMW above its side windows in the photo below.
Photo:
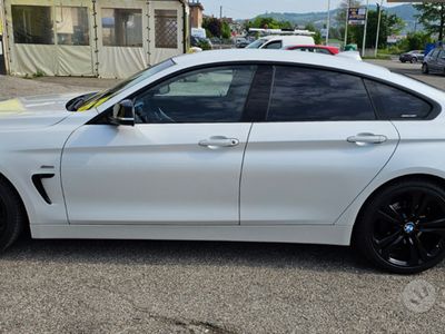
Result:
<svg viewBox="0 0 445 334"><path fill-rule="evenodd" d="M356 61L350 58L332 57L323 53L289 52L286 50L264 49L230 49L204 51L192 55L184 55L174 58L174 61L181 67L194 67L218 62L286 62L295 65L319 66L338 70L368 75L372 77L387 76L390 71L387 68Z"/></svg>

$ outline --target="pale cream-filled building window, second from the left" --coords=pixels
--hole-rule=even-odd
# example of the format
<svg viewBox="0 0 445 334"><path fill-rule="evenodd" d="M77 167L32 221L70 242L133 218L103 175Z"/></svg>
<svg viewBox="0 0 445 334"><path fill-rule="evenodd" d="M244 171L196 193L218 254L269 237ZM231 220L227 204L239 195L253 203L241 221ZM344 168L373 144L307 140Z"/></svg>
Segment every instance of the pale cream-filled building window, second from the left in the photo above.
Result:
<svg viewBox="0 0 445 334"><path fill-rule="evenodd" d="M56 30L58 45L89 46L88 9L86 7L57 7Z"/></svg>

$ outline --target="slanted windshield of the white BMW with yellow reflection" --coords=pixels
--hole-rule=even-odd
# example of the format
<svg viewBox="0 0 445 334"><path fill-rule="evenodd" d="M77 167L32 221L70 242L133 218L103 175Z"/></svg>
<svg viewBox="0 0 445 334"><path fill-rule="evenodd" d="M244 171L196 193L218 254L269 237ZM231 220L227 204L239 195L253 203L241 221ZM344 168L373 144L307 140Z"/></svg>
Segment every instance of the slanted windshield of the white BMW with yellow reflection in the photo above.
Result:
<svg viewBox="0 0 445 334"><path fill-rule="evenodd" d="M99 107L100 105L105 104L106 101L108 101L110 98L119 95L120 92L122 92L126 89L129 89L136 85L138 85L139 82L148 79L149 77L159 73L160 71L164 71L165 69L171 67L176 65L175 61L170 58L164 62L160 62L158 65L155 65L148 69L145 69L134 76L131 76L130 78L128 78L127 80L123 80L122 82L119 82L117 86L115 86L113 88L107 89L105 91L99 91L97 94L95 94L93 96L88 96L87 99L85 100L80 100L79 102L76 102L76 111L85 111L85 110L89 110L91 108L96 108Z"/></svg>

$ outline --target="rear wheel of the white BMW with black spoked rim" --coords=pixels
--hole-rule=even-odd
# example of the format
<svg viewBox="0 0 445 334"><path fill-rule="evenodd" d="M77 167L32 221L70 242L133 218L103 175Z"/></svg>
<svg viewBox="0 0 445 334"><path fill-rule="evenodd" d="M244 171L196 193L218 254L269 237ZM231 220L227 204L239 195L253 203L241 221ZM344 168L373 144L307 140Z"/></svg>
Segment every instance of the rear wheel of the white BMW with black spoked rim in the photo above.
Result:
<svg viewBox="0 0 445 334"><path fill-rule="evenodd" d="M390 273L435 266L445 257L445 190L422 179L379 190L360 210L353 245Z"/></svg>

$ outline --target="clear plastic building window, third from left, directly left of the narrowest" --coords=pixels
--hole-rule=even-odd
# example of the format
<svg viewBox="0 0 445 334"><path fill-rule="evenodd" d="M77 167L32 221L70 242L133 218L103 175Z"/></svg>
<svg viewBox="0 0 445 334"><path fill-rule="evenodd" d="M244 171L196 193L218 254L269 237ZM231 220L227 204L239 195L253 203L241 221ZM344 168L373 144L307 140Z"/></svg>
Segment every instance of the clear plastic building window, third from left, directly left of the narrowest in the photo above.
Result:
<svg viewBox="0 0 445 334"><path fill-rule="evenodd" d="M142 47L141 9L102 9L102 42L106 47Z"/></svg>

